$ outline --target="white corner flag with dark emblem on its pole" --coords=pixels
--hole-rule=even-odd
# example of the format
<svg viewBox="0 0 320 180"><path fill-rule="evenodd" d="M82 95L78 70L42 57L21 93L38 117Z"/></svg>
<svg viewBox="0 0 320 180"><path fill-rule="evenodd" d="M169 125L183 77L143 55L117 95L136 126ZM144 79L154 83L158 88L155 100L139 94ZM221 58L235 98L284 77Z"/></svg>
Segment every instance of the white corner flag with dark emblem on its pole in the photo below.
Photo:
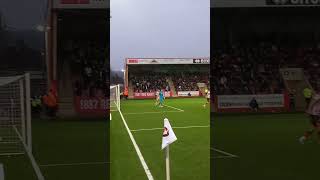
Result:
<svg viewBox="0 0 320 180"><path fill-rule="evenodd" d="M167 118L164 119L164 127L162 134L161 149L166 149L166 180L170 180L170 158L169 158L169 145L177 140L170 122Z"/></svg>

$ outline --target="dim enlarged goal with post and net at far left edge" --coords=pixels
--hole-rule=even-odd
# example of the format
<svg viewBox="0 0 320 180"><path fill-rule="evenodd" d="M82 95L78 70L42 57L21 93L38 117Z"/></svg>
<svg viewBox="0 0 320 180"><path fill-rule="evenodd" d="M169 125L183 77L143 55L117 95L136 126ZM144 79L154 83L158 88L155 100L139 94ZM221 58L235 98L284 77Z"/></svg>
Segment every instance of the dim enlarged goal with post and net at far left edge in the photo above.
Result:
<svg viewBox="0 0 320 180"><path fill-rule="evenodd" d="M0 77L0 155L32 150L28 75Z"/></svg>

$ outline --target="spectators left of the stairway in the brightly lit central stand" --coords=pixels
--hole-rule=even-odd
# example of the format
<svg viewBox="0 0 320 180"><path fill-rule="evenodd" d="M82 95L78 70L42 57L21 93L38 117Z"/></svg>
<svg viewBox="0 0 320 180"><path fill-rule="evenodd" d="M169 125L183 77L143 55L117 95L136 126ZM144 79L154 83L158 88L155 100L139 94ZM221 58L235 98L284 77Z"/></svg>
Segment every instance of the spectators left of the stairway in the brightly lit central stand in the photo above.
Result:
<svg viewBox="0 0 320 180"><path fill-rule="evenodd" d="M155 92L158 90L170 91L166 73L135 74L129 77L134 92Z"/></svg>

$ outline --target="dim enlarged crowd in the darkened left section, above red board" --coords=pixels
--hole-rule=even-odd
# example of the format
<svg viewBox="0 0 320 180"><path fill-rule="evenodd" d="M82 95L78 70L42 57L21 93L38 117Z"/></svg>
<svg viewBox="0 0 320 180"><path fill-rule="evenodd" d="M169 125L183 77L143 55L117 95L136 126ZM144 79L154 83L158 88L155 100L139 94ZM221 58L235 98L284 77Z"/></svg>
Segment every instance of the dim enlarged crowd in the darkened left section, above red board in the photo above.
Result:
<svg viewBox="0 0 320 180"><path fill-rule="evenodd" d="M64 61L69 61L76 96L106 97L106 51L97 41L67 41Z"/></svg>

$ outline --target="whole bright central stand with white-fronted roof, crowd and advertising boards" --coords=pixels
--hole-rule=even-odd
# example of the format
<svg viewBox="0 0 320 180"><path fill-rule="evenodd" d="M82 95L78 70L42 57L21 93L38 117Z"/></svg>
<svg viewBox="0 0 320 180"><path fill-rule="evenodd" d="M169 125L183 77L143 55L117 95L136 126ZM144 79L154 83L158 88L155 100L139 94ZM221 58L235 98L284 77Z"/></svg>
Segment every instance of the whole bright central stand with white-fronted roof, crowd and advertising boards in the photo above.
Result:
<svg viewBox="0 0 320 180"><path fill-rule="evenodd" d="M129 99L199 97L209 86L209 58L127 58L125 87Z"/></svg>

